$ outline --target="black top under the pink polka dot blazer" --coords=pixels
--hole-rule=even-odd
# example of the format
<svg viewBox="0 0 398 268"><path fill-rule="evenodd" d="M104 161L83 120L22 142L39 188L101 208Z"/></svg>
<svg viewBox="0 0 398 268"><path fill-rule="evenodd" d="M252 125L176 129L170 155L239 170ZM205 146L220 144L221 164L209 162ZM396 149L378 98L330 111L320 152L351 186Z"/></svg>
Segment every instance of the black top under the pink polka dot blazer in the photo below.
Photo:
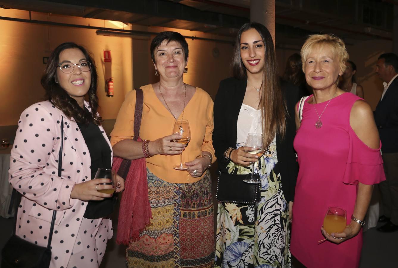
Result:
<svg viewBox="0 0 398 268"><path fill-rule="evenodd" d="M86 142L91 158L91 179L94 179L98 168L111 169L111 149L103 137L98 125L92 121L86 125L85 123L77 123L82 132L84 141ZM88 201L84 217L88 219L98 219L105 217L113 211L112 198L105 198L102 201Z"/></svg>

